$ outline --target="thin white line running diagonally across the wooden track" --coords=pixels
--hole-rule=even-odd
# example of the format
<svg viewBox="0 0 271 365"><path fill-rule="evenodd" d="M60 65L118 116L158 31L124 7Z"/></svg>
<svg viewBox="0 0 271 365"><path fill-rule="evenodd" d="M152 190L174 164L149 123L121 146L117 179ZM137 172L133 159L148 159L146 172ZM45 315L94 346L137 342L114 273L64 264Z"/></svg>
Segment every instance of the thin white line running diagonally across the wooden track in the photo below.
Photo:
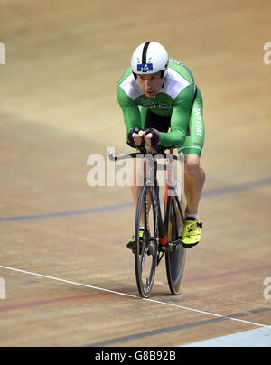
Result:
<svg viewBox="0 0 271 365"><path fill-rule="evenodd" d="M227 318L231 321L236 321L236 322L240 322L240 323L247 323L247 324L255 325L255 326L258 326L258 327L266 327L266 328L271 329L271 326L267 326L265 324L244 321L244 320L241 320L241 319L238 319L238 318L228 317L227 315L213 314L213 313L210 313L210 312L204 312L204 311L200 311L198 309L189 308L189 307L185 307L185 306L178 305L178 304L161 302L161 301L154 300L154 299L142 299L140 296L137 296L137 295L130 295L130 294L126 294L126 293L116 292L114 290L108 290L108 289L104 289L102 287L93 286L93 285L80 284L80 283L76 283L76 282L73 282L73 281L70 281L70 280L64 280L64 279L60 279L58 277L46 276L46 275L41 275L41 274L37 274L37 273L32 273L30 271L21 270L21 269L14 268L14 267L0 266L0 268L5 268L6 270L14 271L14 272L17 272L17 273L23 273L23 274L28 274L28 275L32 275L32 276L39 276L39 277L54 280L54 281L60 281L61 283L66 283L66 284L70 284L70 285L89 287L90 289L95 289L95 290L102 291L102 292L112 293L112 294L115 294L115 295L123 295L123 296L127 296L127 297L130 297L130 298L141 299L141 300L144 300L145 302L150 302L150 303L154 303L154 304L163 304L163 305L167 305L167 306L173 306L175 308L183 309L183 310L186 310L186 311L192 311L192 312L199 313L199 314L206 314L206 315L210 315L212 317L219 317L219 318L225 318L225 319Z"/></svg>

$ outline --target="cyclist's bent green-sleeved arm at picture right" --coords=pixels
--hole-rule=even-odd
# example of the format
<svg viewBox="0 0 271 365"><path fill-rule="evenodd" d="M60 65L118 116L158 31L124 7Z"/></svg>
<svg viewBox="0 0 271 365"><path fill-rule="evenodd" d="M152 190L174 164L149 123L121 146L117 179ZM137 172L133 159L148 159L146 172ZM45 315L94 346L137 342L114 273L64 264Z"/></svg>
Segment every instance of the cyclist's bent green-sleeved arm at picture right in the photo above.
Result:
<svg viewBox="0 0 271 365"><path fill-rule="evenodd" d="M194 98L194 84L190 84L175 99L175 106L171 118L171 132L160 133L161 145L183 145L191 116Z"/></svg>

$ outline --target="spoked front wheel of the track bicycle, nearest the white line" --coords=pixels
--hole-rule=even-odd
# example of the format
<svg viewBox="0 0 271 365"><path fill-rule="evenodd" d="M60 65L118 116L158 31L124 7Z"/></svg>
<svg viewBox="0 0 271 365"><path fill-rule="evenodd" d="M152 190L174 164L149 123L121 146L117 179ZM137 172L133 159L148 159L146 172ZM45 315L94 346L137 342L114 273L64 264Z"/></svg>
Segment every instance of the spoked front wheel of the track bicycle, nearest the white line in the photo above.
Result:
<svg viewBox="0 0 271 365"><path fill-rule="evenodd" d="M144 232L140 222L145 221ZM135 276L139 294L147 298L154 285L158 255L157 202L151 182L142 187L135 218ZM141 230L141 232L140 232Z"/></svg>

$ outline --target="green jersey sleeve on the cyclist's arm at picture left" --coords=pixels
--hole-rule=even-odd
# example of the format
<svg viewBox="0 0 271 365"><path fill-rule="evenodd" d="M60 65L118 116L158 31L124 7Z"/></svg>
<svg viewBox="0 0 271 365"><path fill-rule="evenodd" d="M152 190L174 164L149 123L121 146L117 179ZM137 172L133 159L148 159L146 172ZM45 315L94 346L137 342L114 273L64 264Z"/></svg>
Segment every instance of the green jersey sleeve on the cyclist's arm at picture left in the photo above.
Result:
<svg viewBox="0 0 271 365"><path fill-rule="evenodd" d="M119 85L117 86L117 101L123 112L127 133L132 128L140 128L141 115L138 105L126 95L126 92Z"/></svg>

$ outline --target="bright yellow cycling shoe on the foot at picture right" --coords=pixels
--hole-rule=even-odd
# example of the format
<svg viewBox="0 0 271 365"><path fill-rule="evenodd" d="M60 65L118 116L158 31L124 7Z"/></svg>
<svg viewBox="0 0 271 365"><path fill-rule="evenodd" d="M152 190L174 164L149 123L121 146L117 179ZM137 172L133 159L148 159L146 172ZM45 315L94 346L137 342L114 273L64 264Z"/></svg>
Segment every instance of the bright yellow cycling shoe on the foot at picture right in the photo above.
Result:
<svg viewBox="0 0 271 365"><path fill-rule="evenodd" d="M192 248L198 245L201 240L202 223L195 218L186 218L182 230L182 246Z"/></svg>

